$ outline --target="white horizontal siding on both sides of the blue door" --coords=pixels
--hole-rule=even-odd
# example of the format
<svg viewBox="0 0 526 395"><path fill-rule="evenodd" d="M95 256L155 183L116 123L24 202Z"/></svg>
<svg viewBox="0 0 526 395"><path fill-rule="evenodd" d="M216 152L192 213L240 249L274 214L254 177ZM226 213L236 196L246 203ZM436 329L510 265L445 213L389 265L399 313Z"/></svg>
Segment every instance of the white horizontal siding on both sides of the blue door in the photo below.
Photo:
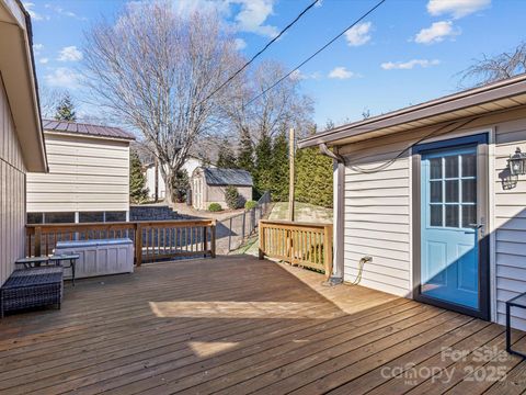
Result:
<svg viewBox="0 0 526 395"><path fill-rule="evenodd" d="M436 128L436 127L435 127ZM506 159L518 146L526 153L526 110L514 110L481 117L464 129L439 138L495 131L494 158L490 158L489 179L493 180L490 202L493 206L494 248L490 251L495 284L490 291L496 320L504 324L505 301L526 292L526 176L512 189L502 183ZM395 158L402 149L427 135L433 128L421 128L390 137L369 139L343 146L347 162L374 168ZM428 142L428 140L426 140ZM369 255L361 284L397 295L411 295L411 166L409 154L374 173L362 173L347 165L345 173L345 281L357 274L358 261ZM526 314L514 312L514 326L526 329Z"/></svg>

